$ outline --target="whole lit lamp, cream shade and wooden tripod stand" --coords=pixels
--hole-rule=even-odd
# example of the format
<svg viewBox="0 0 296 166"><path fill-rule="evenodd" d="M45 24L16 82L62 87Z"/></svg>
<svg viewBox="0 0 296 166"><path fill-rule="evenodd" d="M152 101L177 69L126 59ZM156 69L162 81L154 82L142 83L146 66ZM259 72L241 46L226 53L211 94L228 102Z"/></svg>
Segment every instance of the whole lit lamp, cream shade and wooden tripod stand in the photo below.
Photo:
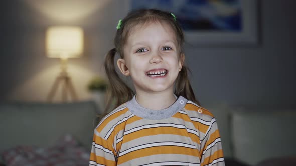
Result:
<svg viewBox="0 0 296 166"><path fill-rule="evenodd" d="M67 102L68 96L73 101L77 100L71 77L67 72L68 58L78 58L83 52L83 30L76 26L52 26L46 31L46 50L47 56L61 59L61 72L57 76L49 92L47 100L53 101L53 98L59 88L62 86L62 101Z"/></svg>

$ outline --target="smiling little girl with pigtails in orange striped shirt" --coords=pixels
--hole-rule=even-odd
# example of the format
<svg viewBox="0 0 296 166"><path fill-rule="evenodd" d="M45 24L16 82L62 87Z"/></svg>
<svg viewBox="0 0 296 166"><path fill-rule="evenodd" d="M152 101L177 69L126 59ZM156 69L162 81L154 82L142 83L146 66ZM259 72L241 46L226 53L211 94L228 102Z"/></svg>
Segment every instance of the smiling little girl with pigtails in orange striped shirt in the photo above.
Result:
<svg viewBox="0 0 296 166"><path fill-rule="evenodd" d="M94 130L89 165L224 165L216 120L198 105L187 77L174 14L132 11L114 43L105 70L117 108ZM115 54L135 95L116 72Z"/></svg>

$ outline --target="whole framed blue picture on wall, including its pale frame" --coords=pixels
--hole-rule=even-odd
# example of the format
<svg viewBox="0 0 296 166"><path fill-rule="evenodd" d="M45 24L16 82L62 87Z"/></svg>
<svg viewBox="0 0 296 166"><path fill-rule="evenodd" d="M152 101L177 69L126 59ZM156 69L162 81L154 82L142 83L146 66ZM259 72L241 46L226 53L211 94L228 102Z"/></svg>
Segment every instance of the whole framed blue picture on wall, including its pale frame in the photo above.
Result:
<svg viewBox="0 0 296 166"><path fill-rule="evenodd" d="M258 43L257 0L129 0L130 10L172 12L186 43L196 46L253 46Z"/></svg>

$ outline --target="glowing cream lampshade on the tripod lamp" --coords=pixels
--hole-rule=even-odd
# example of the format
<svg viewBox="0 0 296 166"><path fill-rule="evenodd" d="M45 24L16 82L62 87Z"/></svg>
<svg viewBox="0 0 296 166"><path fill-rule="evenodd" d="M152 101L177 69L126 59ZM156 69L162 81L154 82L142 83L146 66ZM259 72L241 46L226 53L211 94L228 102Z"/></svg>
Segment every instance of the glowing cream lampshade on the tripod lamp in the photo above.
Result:
<svg viewBox="0 0 296 166"><path fill-rule="evenodd" d="M53 26L46 31L48 57L75 58L83 52L83 30L74 26Z"/></svg>

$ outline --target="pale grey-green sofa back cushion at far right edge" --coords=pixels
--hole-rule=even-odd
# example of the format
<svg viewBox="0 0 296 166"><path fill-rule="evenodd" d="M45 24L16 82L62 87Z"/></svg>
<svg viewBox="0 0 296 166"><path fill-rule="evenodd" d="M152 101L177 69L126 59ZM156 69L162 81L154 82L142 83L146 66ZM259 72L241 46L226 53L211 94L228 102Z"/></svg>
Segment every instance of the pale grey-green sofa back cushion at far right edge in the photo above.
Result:
<svg viewBox="0 0 296 166"><path fill-rule="evenodd" d="M296 155L294 126L296 111L233 112L233 153L238 160L254 165L271 157Z"/></svg>

